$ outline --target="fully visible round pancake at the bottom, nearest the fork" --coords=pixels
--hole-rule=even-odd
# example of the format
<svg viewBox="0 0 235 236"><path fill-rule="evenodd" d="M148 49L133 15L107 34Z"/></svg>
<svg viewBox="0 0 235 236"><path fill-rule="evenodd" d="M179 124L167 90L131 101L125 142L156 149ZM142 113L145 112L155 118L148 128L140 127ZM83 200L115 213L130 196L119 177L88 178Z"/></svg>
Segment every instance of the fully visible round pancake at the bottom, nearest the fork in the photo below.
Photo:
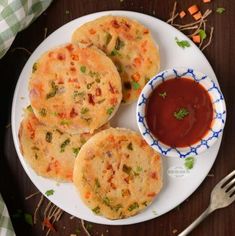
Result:
<svg viewBox="0 0 235 236"><path fill-rule="evenodd" d="M109 219L130 217L159 193L161 158L136 132L109 128L82 146L73 182L95 214Z"/></svg>

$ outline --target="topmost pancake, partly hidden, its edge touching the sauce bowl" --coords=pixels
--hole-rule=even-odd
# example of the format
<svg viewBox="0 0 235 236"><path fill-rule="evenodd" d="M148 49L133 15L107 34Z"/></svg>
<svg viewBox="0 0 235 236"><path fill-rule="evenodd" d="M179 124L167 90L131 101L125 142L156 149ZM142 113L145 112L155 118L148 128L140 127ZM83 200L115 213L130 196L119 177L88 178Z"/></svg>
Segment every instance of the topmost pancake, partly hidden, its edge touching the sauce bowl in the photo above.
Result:
<svg viewBox="0 0 235 236"><path fill-rule="evenodd" d="M160 56L150 31L121 16L103 16L80 26L72 42L94 45L114 62L122 79L123 103L135 101L146 82L159 72Z"/></svg>

